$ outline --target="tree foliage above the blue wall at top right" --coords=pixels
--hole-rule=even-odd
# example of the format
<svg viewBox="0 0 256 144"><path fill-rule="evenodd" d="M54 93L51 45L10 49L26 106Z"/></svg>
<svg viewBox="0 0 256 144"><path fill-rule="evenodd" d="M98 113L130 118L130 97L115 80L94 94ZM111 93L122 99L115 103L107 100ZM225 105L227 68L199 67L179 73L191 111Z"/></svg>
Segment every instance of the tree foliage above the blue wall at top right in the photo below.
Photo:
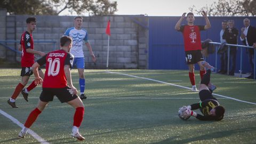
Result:
<svg viewBox="0 0 256 144"><path fill-rule="evenodd" d="M196 9L193 5L189 10L198 14L204 10L210 16L255 16L255 7L256 0L219 0L201 9Z"/></svg>

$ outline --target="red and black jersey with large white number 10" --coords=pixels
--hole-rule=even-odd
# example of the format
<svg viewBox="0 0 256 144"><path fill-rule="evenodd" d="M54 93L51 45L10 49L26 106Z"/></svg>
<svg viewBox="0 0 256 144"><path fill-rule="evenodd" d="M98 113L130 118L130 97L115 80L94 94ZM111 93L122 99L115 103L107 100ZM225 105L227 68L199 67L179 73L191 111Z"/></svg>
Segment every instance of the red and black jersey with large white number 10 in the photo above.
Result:
<svg viewBox="0 0 256 144"><path fill-rule="evenodd" d="M46 63L46 71L44 75L44 88L63 88L67 86L67 78L64 66L72 67L74 56L64 50L52 51L46 54L37 63L42 66Z"/></svg>

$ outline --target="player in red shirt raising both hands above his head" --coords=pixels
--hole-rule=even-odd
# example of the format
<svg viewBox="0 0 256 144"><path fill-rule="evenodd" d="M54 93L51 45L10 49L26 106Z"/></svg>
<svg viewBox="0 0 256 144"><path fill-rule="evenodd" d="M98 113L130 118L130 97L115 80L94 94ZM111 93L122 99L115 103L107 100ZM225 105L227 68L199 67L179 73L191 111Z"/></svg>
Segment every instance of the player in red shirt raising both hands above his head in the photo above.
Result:
<svg viewBox="0 0 256 144"><path fill-rule="evenodd" d="M205 26L197 26L194 25L195 17L194 14L189 12L187 14L187 25L182 25L181 22L185 18L186 13L182 14L182 17L175 25L175 29L181 31L184 39L185 53L186 53L186 62L189 68L189 79L192 85L192 90L197 91L195 84L195 63L197 63L200 67L200 76L201 79L205 74L205 68L202 65L202 61L204 61L203 55L201 53L201 36L200 30L206 30L211 27L210 21L207 18L206 12L202 11L202 15L205 19Z"/></svg>

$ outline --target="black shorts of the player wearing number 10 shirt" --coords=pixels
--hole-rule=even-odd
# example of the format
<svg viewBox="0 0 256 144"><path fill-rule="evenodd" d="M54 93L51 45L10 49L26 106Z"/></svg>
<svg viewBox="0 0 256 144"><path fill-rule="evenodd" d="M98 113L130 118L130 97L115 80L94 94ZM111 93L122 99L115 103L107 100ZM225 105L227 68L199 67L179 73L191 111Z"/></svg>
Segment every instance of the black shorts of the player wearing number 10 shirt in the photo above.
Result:
<svg viewBox="0 0 256 144"><path fill-rule="evenodd" d="M44 102L53 101L54 95L60 100L61 103L68 102L76 99L78 96L70 93L69 86L63 88L43 88L39 99Z"/></svg>

